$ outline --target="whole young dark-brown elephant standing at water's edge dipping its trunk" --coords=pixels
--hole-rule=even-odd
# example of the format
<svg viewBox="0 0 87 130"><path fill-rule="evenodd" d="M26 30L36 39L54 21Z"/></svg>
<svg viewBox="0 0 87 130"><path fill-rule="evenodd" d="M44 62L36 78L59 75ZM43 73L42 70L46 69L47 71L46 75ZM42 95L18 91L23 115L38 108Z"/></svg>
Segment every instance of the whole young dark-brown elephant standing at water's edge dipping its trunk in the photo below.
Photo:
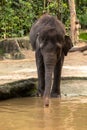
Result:
<svg viewBox="0 0 87 130"><path fill-rule="evenodd" d="M49 97L60 97L60 79L64 56L73 46L65 35L64 25L55 17L43 15L30 30L30 42L35 50L38 71L38 95L49 106ZM54 81L52 85L52 74Z"/></svg>

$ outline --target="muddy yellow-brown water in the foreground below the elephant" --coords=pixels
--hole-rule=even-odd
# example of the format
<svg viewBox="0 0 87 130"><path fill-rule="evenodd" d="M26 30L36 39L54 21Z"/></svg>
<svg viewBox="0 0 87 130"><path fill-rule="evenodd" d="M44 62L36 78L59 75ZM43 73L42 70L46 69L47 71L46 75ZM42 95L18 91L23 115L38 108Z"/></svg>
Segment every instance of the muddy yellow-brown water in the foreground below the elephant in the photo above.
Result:
<svg viewBox="0 0 87 130"><path fill-rule="evenodd" d="M0 130L87 130L87 98L41 98L0 102Z"/></svg>

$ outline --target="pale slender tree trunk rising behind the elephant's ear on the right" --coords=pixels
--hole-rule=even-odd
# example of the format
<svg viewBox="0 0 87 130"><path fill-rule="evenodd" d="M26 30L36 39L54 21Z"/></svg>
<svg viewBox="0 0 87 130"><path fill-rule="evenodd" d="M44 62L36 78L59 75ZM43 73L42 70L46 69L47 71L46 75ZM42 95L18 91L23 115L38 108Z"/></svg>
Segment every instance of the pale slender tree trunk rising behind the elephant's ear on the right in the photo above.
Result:
<svg viewBox="0 0 87 130"><path fill-rule="evenodd" d="M71 39L74 44L75 43L75 21L76 21L75 1L68 0L68 2L69 2L69 9L70 9Z"/></svg>

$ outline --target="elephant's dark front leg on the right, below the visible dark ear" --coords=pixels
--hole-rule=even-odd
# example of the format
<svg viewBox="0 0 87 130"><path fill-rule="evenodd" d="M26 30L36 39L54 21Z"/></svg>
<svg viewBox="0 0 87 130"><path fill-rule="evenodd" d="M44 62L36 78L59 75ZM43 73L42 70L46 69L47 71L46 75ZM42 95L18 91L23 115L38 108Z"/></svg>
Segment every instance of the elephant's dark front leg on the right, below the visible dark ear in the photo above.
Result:
<svg viewBox="0 0 87 130"><path fill-rule="evenodd" d="M54 81L53 81L53 87L51 91L51 97L61 97L61 91L60 91L60 82L61 82L61 71L62 71L62 65L63 65L63 59L60 59L54 69Z"/></svg>

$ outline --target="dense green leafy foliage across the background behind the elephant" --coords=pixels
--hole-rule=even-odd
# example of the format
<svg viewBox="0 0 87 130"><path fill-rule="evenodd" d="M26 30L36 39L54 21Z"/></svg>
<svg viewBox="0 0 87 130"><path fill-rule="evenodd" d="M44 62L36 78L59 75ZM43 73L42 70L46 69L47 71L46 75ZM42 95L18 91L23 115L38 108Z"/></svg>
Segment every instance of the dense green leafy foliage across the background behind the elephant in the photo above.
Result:
<svg viewBox="0 0 87 130"><path fill-rule="evenodd" d="M87 0L76 0L77 18L82 28L87 27ZM67 0L0 0L0 38L27 35L31 25L46 10L57 16L70 27L70 13Z"/></svg>

